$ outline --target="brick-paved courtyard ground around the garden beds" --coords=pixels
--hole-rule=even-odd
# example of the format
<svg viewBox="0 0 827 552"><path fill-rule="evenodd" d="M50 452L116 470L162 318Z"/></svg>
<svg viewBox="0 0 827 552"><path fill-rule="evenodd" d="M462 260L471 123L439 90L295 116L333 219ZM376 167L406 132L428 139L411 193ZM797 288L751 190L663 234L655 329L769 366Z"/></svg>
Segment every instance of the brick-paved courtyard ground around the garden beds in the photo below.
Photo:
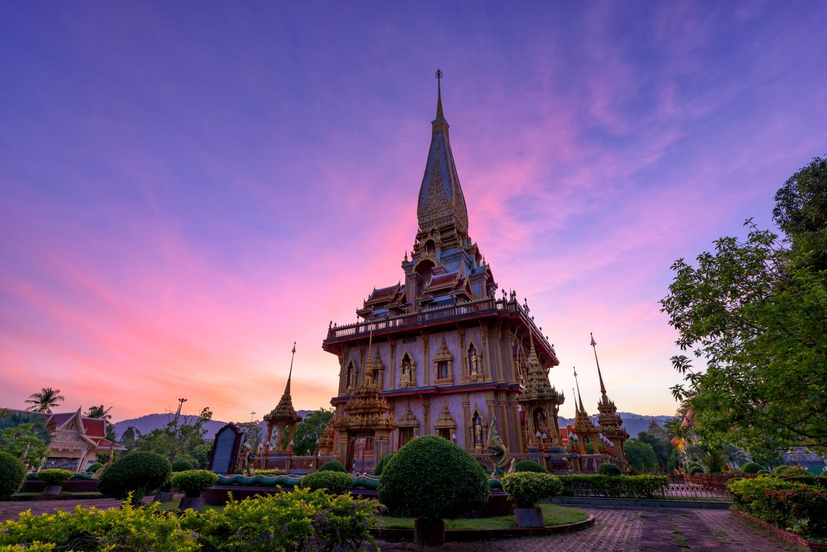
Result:
<svg viewBox="0 0 827 552"><path fill-rule="evenodd" d="M0 502L0 521L14 519L18 512L31 509L35 514L54 509L117 507L110 499L86 501ZM448 542L433 550L454 552L780 552L801 550L786 540L735 516L728 510L689 510L681 508L584 507L593 514L594 526L583 531L503 539L488 542ZM394 550L431 550L410 542L379 541L384 552Z"/></svg>

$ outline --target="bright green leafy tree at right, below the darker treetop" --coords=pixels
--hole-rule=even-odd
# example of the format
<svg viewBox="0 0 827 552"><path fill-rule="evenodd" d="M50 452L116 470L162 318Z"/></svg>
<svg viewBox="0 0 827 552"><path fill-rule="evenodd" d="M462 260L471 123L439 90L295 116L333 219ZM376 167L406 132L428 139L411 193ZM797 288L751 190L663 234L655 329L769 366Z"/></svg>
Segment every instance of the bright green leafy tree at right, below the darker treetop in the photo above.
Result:
<svg viewBox="0 0 827 552"><path fill-rule="evenodd" d="M681 350L706 364L700 371L686 355L673 357L686 383L672 393L692 407L702 440L825 452L827 272L782 248L772 232L748 226L746 240L716 240L696 267L683 259L672 265L662 310Z"/></svg>

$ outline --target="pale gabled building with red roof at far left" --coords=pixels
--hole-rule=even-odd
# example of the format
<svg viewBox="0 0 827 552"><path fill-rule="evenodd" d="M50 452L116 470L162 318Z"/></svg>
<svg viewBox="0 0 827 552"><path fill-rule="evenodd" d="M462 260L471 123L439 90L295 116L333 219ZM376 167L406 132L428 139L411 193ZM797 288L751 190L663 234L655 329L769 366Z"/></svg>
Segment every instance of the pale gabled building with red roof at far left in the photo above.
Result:
<svg viewBox="0 0 827 552"><path fill-rule="evenodd" d="M49 443L49 458L41 469L60 468L75 472L83 472L96 461L96 454L108 454L126 450L117 443L106 438L106 421L99 418L81 416L77 412L58 412L48 414L42 412L28 412L6 408L0 411L13 413L20 412L29 416L42 416L46 419L46 427L52 435Z"/></svg>

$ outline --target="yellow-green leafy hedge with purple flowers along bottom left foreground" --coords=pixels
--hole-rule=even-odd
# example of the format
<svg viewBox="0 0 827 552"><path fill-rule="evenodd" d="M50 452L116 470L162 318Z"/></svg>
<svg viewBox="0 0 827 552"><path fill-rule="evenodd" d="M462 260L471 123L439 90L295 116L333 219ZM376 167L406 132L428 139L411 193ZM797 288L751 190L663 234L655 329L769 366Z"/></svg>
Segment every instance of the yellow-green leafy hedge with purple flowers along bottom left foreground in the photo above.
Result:
<svg viewBox="0 0 827 552"><path fill-rule="evenodd" d="M362 550L365 543L374 544L370 530L379 526L379 509L373 500L297 489L228 502L221 513L159 512L157 503L37 516L22 512L2 525L0 550Z"/></svg>

